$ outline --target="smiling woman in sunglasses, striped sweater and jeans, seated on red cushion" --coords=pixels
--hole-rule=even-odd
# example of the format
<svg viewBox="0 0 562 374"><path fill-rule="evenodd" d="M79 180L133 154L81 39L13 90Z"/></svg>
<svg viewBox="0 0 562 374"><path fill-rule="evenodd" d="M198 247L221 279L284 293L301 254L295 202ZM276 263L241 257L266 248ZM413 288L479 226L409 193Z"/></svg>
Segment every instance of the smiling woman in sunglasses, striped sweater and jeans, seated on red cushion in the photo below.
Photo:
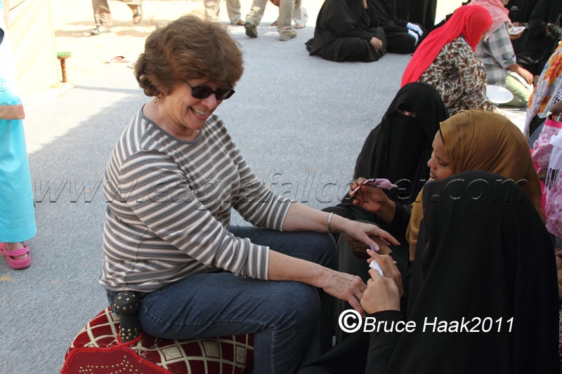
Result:
<svg viewBox="0 0 562 374"><path fill-rule="evenodd" d="M135 75L155 99L125 128L105 174L100 283L110 304L119 291L139 293L141 328L160 338L252 333L256 373L293 373L331 345L329 295L362 312L365 284L326 267L327 233L367 246L369 235L396 240L275 196L256 178L213 114L242 75L223 26L185 16L157 29ZM253 226L230 226L231 208Z"/></svg>

